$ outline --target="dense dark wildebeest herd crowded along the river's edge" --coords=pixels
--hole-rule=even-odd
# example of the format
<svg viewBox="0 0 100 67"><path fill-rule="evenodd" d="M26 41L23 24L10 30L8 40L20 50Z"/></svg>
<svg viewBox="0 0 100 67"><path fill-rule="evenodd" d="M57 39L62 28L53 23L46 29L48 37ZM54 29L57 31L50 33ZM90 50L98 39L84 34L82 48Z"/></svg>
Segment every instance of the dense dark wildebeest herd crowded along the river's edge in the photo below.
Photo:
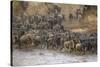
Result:
<svg viewBox="0 0 100 67"><path fill-rule="evenodd" d="M48 15L12 16L12 45L19 49L43 48L68 51L97 51L97 32L77 33L65 30L64 15L58 8Z"/></svg>

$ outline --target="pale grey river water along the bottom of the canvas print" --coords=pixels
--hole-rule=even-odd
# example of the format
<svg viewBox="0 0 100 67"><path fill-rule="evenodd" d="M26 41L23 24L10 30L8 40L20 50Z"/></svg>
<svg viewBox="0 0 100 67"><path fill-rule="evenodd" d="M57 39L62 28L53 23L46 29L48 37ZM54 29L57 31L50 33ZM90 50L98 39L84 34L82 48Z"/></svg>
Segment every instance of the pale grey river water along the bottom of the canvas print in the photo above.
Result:
<svg viewBox="0 0 100 67"><path fill-rule="evenodd" d="M76 55L47 49L13 50L14 66L96 62L97 55Z"/></svg>

